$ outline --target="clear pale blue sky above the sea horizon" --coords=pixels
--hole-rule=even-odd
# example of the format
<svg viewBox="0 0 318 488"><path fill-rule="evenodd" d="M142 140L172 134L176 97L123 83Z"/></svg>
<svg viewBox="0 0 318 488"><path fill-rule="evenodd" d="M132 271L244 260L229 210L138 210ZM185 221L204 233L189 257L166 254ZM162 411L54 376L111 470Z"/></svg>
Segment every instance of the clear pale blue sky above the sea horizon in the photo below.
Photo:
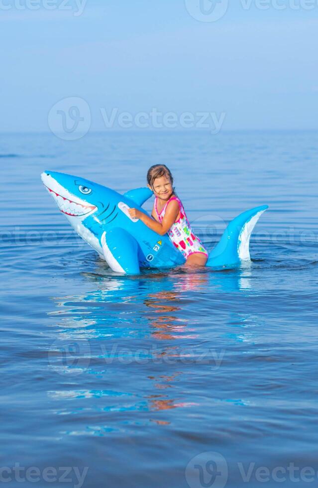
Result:
<svg viewBox="0 0 318 488"><path fill-rule="evenodd" d="M225 112L224 129L318 128L317 0L311 10L295 8L306 0L279 0L282 10L229 0L213 22L184 0L87 0L81 15L75 0L72 10L25 1L1 0L1 131L48 130L65 97L88 102L95 130L101 108L153 107Z"/></svg>

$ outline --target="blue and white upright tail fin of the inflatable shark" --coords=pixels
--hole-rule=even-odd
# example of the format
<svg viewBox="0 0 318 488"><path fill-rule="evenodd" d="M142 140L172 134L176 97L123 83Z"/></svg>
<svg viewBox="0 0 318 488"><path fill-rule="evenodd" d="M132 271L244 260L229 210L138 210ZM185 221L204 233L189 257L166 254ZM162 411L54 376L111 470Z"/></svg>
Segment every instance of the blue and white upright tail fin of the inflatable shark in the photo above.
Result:
<svg viewBox="0 0 318 488"><path fill-rule="evenodd" d="M253 229L268 205L243 212L232 220L224 231L220 242L209 254L207 266L232 266L249 260L249 240Z"/></svg>

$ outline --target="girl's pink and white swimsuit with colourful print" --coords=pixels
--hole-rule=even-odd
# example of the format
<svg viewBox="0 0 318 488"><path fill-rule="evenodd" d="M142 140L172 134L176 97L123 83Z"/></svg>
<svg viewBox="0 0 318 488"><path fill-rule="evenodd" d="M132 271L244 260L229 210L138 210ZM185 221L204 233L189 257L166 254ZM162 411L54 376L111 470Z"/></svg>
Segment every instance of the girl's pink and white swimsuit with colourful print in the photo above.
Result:
<svg viewBox="0 0 318 488"><path fill-rule="evenodd" d="M158 216L159 222L162 222L162 219L167 209L167 205L172 200L176 200L179 204L180 218L172 224L170 230L168 231L168 236L170 237L170 240L177 247L177 249L182 252L186 259L195 252L205 254L208 257L207 249L202 245L200 239L192 232L191 226L186 216L185 209L183 208L181 200L178 197L173 195L168 200L160 213L157 209L157 197L155 198L154 208Z"/></svg>

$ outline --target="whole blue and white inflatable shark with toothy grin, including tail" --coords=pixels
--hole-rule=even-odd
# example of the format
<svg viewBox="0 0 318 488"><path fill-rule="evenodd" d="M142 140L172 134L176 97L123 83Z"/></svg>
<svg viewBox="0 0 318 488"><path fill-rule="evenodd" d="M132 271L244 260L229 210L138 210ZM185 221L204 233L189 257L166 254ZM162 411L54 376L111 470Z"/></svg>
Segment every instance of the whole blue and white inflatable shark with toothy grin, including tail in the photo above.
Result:
<svg viewBox="0 0 318 488"><path fill-rule="evenodd" d="M141 206L152 195L148 188L121 195L79 176L45 171L41 178L71 226L113 271L138 274L142 267L173 268L185 262L167 234L159 236L130 217L130 207L146 213ZM248 210L230 222L210 252L207 266L230 268L249 260L250 235L267 208Z"/></svg>

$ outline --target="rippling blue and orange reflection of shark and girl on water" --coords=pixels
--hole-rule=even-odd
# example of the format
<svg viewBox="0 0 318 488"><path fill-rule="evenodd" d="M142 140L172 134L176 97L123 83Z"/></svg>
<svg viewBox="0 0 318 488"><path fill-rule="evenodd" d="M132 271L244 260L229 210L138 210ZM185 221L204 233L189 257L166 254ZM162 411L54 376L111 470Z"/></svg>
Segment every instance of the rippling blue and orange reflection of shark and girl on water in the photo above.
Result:
<svg viewBox="0 0 318 488"><path fill-rule="evenodd" d="M122 425L135 425L136 416L127 418L129 412L160 412L200 403L193 397L189 401L185 393L180 397L180 391L176 394L183 375L196 374L200 367L212 369L211 343L203 336L207 328L212 333L213 317L207 324L198 304L204 308L207 300L210 305L221 300L223 309L215 304L215 314L225 313L228 324L235 322L239 328L237 334L224 331L221 336L225 335L229 344L252 340L251 319L243 309L240 314L229 310L232 294L251 288L248 266L235 272L204 270L137 277L85 273L85 279L94 287L98 283L98 289L58 298L58 310L49 312L59 319L50 366L66 375L70 384L61 382L60 389L48 395L61 402L56 414L85 415L88 435L105 435L121 431ZM72 352L70 341L77 343ZM98 388L101 381L103 389ZM72 402L72 408L66 402ZM113 418L115 412L123 417ZM103 418L97 420L101 413ZM142 422L170 423L149 417L142 417ZM83 429L64 431L78 432L83 434Z"/></svg>

